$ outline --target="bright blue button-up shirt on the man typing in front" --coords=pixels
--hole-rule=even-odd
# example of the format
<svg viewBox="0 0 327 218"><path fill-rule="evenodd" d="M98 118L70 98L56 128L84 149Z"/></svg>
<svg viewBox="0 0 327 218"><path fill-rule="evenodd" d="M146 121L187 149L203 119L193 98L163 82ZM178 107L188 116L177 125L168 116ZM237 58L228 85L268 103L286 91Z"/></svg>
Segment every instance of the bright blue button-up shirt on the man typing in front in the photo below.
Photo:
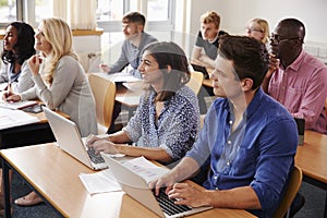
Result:
<svg viewBox="0 0 327 218"><path fill-rule="evenodd" d="M231 105L217 98L203 130L186 156L208 169L204 187L230 190L250 185L258 196L259 217L270 217L278 207L294 165L298 130L294 119L259 88L234 131Z"/></svg>

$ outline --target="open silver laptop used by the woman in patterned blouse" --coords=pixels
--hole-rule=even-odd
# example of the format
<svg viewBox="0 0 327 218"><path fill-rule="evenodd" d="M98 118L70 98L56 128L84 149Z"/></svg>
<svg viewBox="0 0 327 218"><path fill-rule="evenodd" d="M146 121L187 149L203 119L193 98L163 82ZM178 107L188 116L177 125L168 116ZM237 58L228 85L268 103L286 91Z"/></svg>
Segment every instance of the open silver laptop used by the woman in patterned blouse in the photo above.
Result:
<svg viewBox="0 0 327 218"><path fill-rule="evenodd" d="M94 149L87 149L76 124L59 113L43 107L46 118L53 132L58 146L93 170L107 168L100 155L95 155Z"/></svg>

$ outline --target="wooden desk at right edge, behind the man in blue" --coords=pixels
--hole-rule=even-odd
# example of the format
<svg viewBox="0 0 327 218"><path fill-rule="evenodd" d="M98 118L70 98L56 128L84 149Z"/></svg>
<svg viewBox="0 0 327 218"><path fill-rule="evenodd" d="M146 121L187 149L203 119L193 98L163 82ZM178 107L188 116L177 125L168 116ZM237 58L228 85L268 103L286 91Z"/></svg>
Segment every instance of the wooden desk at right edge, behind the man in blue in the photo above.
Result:
<svg viewBox="0 0 327 218"><path fill-rule="evenodd" d="M305 182L327 191L327 135L305 131L304 144L298 146L295 165L302 169ZM324 217L327 218L327 192Z"/></svg>

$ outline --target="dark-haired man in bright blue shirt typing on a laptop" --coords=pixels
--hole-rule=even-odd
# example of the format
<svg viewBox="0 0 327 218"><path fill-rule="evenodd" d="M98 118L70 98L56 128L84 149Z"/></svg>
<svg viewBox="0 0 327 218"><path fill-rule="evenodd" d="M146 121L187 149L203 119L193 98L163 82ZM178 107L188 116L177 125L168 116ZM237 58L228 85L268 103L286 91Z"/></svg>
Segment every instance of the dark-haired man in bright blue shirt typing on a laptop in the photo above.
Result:
<svg viewBox="0 0 327 218"><path fill-rule="evenodd" d="M296 124L267 96L261 84L268 70L263 44L245 36L225 36L210 75L217 98L209 108L199 138L181 162L150 183L168 186L177 204L247 209L271 217L293 169ZM204 190L178 183L198 170Z"/></svg>

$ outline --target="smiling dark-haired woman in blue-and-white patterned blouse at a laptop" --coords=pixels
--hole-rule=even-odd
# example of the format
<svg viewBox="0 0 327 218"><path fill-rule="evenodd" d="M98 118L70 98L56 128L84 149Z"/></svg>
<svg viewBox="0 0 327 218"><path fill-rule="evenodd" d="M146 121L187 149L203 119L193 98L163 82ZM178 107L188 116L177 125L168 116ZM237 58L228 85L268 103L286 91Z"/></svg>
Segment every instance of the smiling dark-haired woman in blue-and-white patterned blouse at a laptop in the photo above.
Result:
<svg viewBox="0 0 327 218"><path fill-rule="evenodd" d="M182 158L199 131L199 111L184 51L173 43L154 43L144 49L138 66L149 88L123 130L106 138L90 136L96 153L144 156L161 164ZM126 143L137 142L137 146Z"/></svg>

